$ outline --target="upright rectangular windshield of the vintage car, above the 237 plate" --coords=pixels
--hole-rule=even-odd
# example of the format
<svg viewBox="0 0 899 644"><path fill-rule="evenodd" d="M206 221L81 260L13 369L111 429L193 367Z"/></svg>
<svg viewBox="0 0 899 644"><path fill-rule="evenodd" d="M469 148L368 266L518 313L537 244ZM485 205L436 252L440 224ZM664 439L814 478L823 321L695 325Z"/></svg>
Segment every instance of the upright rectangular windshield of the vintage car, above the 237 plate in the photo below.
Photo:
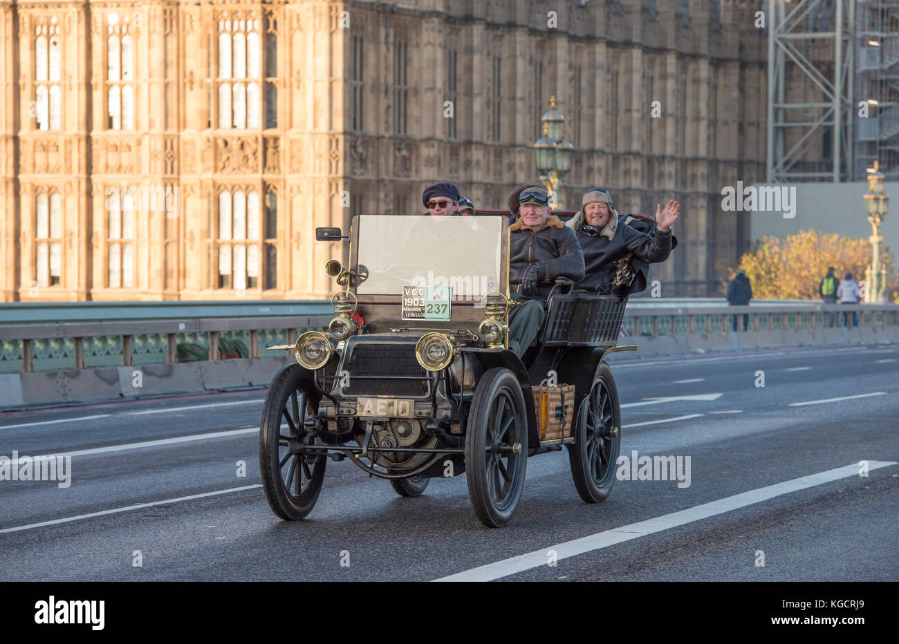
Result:
<svg viewBox="0 0 899 644"><path fill-rule="evenodd" d="M503 216L359 216L359 295L403 296L403 287L449 287L454 300L505 293Z"/></svg>

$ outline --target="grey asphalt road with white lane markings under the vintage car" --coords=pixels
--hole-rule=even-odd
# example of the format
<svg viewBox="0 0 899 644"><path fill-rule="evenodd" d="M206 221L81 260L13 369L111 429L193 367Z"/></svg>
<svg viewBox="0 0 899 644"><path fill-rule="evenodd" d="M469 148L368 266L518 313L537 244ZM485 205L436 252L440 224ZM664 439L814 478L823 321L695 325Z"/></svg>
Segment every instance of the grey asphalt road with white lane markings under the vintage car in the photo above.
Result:
<svg viewBox="0 0 899 644"><path fill-rule="evenodd" d="M631 356L621 454L689 456L689 486L619 480L588 506L543 454L499 530L464 475L399 498L349 462L280 521L263 391L0 414L0 454L76 453L68 487L0 481L0 580L899 579L899 345Z"/></svg>

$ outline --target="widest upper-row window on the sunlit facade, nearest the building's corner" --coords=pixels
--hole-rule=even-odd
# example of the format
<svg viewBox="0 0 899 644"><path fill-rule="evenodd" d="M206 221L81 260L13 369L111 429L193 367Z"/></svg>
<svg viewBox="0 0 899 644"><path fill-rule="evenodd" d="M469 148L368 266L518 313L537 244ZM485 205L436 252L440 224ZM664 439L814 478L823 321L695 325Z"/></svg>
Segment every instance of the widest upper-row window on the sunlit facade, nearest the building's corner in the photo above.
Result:
<svg viewBox="0 0 899 644"><path fill-rule="evenodd" d="M258 19L218 21L218 128L262 127L261 47Z"/></svg>

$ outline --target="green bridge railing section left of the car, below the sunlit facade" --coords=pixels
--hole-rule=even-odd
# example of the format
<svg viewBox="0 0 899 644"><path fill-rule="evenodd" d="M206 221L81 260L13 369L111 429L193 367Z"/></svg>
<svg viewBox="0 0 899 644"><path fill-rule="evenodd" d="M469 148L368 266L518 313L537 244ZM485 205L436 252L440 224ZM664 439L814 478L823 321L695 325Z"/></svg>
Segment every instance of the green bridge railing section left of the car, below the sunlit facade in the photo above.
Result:
<svg viewBox="0 0 899 644"><path fill-rule="evenodd" d="M322 301L0 304L0 373L257 357L332 316Z"/></svg>

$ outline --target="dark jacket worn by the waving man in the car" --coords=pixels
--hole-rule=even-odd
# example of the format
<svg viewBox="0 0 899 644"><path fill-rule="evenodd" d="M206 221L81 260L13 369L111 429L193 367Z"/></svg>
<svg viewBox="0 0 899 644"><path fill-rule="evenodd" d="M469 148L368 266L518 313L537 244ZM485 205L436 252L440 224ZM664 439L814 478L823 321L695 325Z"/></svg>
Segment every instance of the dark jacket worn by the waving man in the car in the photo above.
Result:
<svg viewBox="0 0 899 644"><path fill-rule="evenodd" d="M594 293L603 284L611 283L615 278L615 262L627 256L628 252L634 253L635 260L655 263L667 260L672 251L670 228L663 233L653 226L652 234L645 234L614 216L601 229L601 234L595 237L584 232L583 219L577 222L576 232L577 241L583 249L586 270L585 277L574 287L583 288L590 293ZM645 278L642 286L645 288Z"/></svg>

